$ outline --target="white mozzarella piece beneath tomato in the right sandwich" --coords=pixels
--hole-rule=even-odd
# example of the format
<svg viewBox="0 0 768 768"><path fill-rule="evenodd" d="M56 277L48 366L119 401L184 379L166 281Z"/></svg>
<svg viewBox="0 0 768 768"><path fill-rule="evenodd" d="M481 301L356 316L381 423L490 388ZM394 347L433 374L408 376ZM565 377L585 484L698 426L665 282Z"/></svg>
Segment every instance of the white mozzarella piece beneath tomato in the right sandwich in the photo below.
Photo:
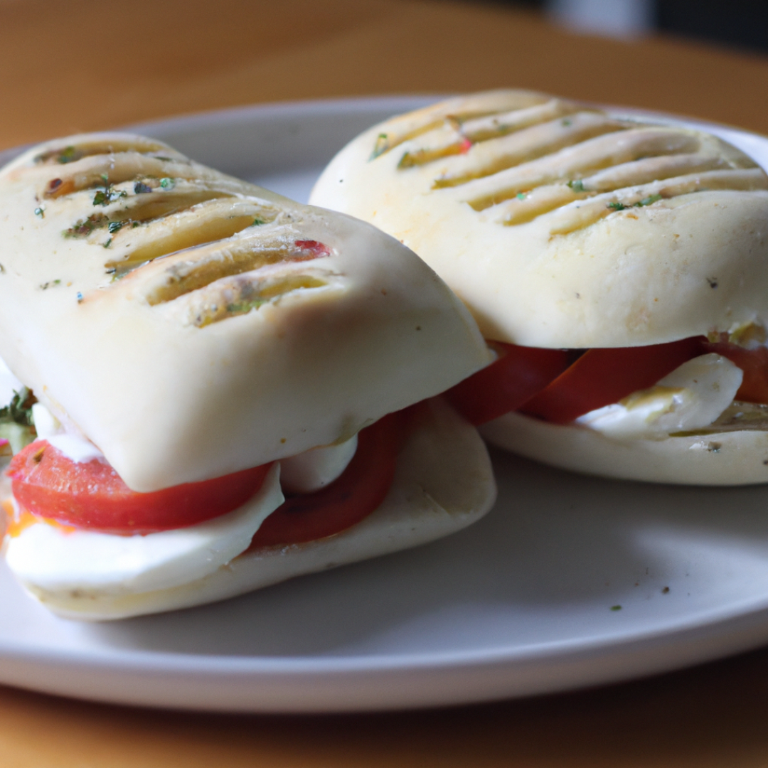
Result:
<svg viewBox="0 0 768 768"><path fill-rule="evenodd" d="M664 438L710 425L730 406L743 372L713 353L695 357L656 386L598 408L576 423L617 439Z"/></svg>

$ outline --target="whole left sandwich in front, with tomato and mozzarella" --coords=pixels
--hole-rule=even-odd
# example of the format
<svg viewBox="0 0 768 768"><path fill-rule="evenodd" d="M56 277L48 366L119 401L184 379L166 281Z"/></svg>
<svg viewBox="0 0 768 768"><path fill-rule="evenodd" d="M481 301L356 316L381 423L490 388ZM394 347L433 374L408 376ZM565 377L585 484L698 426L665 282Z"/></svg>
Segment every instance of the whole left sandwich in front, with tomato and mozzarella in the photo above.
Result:
<svg viewBox="0 0 768 768"><path fill-rule="evenodd" d="M25 152L0 201L3 551L53 611L227 598L491 507L430 399L488 350L401 243L130 134Z"/></svg>

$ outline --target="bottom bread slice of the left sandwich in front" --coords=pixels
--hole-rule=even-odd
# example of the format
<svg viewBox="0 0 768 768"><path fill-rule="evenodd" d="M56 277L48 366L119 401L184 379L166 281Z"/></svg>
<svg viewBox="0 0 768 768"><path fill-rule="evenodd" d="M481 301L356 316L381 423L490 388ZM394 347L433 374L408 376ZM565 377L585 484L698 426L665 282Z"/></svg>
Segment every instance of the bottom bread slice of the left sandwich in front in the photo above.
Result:
<svg viewBox="0 0 768 768"><path fill-rule="evenodd" d="M441 399L432 399L399 452L386 498L346 531L247 551L205 578L170 589L114 595L23 586L56 614L84 621L172 611L434 541L481 518L495 498L490 458L477 430Z"/></svg>

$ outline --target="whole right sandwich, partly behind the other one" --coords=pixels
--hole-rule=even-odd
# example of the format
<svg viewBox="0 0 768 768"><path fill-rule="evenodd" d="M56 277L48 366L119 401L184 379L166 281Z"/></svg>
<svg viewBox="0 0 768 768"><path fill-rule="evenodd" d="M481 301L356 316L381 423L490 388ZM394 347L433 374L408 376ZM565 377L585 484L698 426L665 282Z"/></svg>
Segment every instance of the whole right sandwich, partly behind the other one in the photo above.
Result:
<svg viewBox="0 0 768 768"><path fill-rule="evenodd" d="M492 442L618 478L768 482L768 177L743 151L489 91L370 128L310 201L464 300L498 358L450 398Z"/></svg>

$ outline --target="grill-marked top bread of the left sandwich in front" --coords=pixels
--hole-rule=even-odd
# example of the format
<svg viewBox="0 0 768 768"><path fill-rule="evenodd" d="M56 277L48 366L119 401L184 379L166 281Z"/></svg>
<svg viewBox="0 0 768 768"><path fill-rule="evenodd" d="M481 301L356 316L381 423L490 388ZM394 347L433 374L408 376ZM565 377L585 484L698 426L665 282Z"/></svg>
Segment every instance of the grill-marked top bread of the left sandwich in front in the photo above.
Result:
<svg viewBox="0 0 768 768"><path fill-rule="evenodd" d="M0 170L0 357L150 492L348 439L488 362L369 224L129 134Z"/></svg>

